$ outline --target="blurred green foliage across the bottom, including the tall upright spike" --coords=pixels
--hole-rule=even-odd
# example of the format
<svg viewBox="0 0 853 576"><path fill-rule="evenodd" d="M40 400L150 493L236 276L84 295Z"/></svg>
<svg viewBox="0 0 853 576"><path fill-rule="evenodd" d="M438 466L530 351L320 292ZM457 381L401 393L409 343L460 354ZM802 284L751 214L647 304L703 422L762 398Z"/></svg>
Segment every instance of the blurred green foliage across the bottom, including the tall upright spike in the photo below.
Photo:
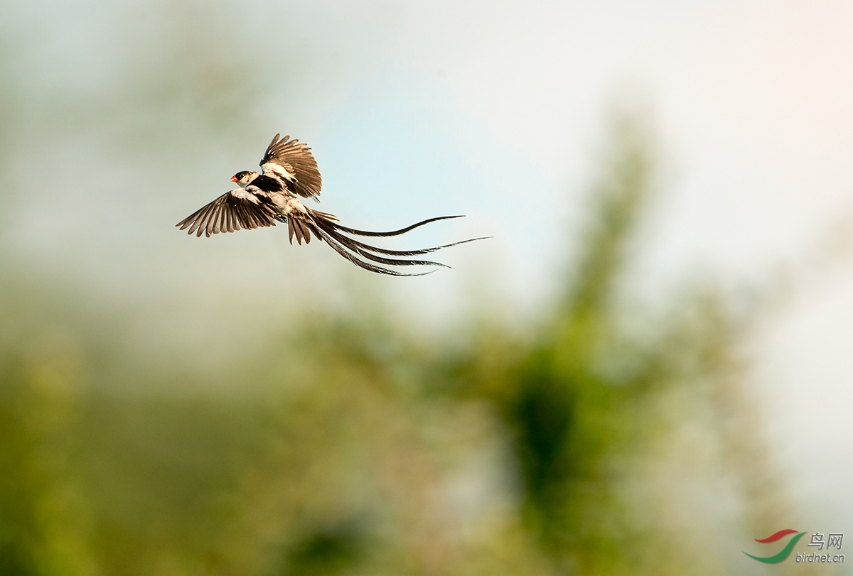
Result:
<svg viewBox="0 0 853 576"><path fill-rule="evenodd" d="M128 358L120 314L6 276L0 573L731 572L718 533L775 530L784 495L733 302L703 285L624 305L648 141L614 121L577 257L525 336L497 313L438 338L378 306L313 313L211 375Z"/></svg>

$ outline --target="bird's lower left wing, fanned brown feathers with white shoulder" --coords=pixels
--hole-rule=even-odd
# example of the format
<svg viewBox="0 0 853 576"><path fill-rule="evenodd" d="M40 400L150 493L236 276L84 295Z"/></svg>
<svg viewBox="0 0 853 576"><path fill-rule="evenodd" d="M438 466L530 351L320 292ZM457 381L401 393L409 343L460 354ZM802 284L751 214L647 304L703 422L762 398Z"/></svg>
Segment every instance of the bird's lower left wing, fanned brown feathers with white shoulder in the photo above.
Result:
<svg viewBox="0 0 853 576"><path fill-rule="evenodd" d="M182 230L189 227L188 234L201 236L204 233L209 237L211 234L234 232L241 228L251 230L275 226L276 220L283 222L268 199L236 188L193 212L176 226Z"/></svg>

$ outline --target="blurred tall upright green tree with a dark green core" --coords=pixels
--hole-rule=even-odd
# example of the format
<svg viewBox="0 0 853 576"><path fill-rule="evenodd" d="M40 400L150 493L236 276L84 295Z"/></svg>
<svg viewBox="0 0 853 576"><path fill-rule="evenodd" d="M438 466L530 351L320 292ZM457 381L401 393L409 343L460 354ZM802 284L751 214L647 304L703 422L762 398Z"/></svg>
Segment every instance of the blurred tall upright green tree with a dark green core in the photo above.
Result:
<svg viewBox="0 0 853 576"><path fill-rule="evenodd" d="M456 368L463 389L494 402L513 432L525 526L555 568L577 573L631 570L640 535L620 498L624 460L642 438L635 406L666 354L643 354L620 333L618 282L653 171L635 118L617 118L611 146L581 254L548 325L528 351L501 354L509 364L497 371L471 372L491 363L488 345Z"/></svg>

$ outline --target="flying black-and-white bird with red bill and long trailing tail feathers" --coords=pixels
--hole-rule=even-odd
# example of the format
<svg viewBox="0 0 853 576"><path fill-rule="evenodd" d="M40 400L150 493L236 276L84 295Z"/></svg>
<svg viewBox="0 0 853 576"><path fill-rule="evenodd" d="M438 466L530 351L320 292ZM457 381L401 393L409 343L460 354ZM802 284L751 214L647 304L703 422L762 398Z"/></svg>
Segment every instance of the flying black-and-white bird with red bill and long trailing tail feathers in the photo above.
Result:
<svg viewBox="0 0 853 576"><path fill-rule="evenodd" d="M320 170L317 168L314 156L310 153L310 147L306 146L305 143L296 139L292 140L289 135L281 138L281 134L276 134L259 165L261 168L259 173L242 170L231 176L231 181L235 182L238 187L224 193L200 210L196 210L178 222L176 226L181 230L189 228L187 233L195 233L196 237L200 237L202 233L206 237L210 237L211 234L235 232L241 229L269 228L281 222L287 224L287 237L291 245L293 245L294 236L299 245L302 245L303 240L305 240L305 244L309 244L311 234L313 234L356 266L369 272L392 276L422 276L434 272L436 268L429 272L405 273L395 268L386 267L436 266L450 268L441 262L417 260L412 259L411 256L421 256L443 248L450 248L450 246L484 239L461 240L420 250L388 250L368 245L351 238L351 236L382 238L400 236L430 222L461 218L462 216L427 218L427 220L415 222L415 224L391 232L371 232L347 228L339 224L339 220L335 216L320 210L311 210L300 201L300 198L310 198L319 202L318 196L322 187ZM395 257L389 258L387 256ZM365 262L365 260L370 262ZM382 266L378 264L382 264Z"/></svg>

